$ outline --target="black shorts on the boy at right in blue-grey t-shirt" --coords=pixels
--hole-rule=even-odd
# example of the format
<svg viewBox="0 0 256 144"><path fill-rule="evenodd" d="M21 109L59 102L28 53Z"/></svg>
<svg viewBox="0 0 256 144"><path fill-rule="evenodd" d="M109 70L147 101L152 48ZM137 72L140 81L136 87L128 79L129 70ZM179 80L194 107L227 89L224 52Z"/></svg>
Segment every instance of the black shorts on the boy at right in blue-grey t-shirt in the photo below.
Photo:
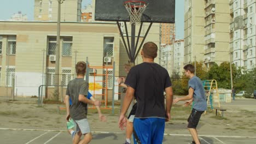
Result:
<svg viewBox="0 0 256 144"><path fill-rule="evenodd" d="M192 109L188 118L188 128L195 129L197 127L197 124L199 123L199 119L203 112L204 111L197 111L195 109Z"/></svg>

